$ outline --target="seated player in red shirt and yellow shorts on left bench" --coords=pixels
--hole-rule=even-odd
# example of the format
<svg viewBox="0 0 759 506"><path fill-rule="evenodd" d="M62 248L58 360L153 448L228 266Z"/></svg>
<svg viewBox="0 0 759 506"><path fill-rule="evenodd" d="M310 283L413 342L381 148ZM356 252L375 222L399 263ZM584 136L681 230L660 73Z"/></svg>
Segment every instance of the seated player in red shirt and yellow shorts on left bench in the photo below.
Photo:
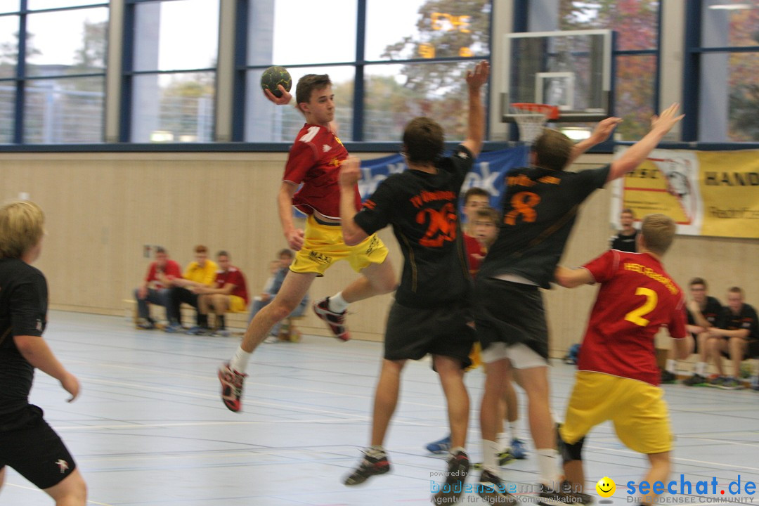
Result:
<svg viewBox="0 0 759 506"><path fill-rule="evenodd" d="M208 313L209 310L213 310L213 313L216 314L214 332L219 335L229 335L225 314L229 312L244 313L247 308L247 288L242 271L229 263L229 253L226 251L216 253L216 261L219 262L219 270L216 271L213 288L200 287L196 290L198 294L198 325L188 330L187 334L211 334L208 326Z"/></svg>

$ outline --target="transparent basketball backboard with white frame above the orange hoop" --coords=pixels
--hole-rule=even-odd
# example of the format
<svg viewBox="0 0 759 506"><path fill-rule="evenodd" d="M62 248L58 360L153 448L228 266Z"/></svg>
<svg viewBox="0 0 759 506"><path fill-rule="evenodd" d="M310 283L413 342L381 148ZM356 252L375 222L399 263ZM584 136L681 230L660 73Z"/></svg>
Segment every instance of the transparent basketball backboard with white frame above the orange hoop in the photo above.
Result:
<svg viewBox="0 0 759 506"><path fill-rule="evenodd" d="M611 115L612 30L509 33L505 46L502 121L514 121L515 102L556 105L561 115L552 121Z"/></svg>

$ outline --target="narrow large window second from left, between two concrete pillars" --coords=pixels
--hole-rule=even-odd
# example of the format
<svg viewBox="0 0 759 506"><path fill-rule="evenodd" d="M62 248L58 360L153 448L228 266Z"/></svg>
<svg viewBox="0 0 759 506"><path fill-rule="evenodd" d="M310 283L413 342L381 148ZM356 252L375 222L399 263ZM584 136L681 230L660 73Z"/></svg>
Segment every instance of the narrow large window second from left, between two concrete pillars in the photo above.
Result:
<svg viewBox="0 0 759 506"><path fill-rule="evenodd" d="M133 8L128 140L213 141L219 0L138 2Z"/></svg>

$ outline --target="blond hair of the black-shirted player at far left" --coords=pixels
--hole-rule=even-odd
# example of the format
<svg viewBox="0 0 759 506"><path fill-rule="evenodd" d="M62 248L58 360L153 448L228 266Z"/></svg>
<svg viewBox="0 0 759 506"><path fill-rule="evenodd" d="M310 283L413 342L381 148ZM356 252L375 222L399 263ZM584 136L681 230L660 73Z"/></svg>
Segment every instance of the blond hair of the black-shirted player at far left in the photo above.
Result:
<svg viewBox="0 0 759 506"><path fill-rule="evenodd" d="M0 258L21 258L45 234L45 213L28 200L0 208Z"/></svg>

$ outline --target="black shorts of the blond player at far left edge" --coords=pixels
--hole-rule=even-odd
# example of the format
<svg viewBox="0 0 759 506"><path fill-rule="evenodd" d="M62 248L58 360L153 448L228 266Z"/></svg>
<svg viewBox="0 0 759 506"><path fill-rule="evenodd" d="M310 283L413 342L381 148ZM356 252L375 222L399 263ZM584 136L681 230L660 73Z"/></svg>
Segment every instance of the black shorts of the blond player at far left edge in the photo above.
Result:
<svg viewBox="0 0 759 506"><path fill-rule="evenodd" d="M40 489L58 485L77 465L61 438L43 420L43 410L30 405L18 413L24 423L0 432L0 469L14 470Z"/></svg>

